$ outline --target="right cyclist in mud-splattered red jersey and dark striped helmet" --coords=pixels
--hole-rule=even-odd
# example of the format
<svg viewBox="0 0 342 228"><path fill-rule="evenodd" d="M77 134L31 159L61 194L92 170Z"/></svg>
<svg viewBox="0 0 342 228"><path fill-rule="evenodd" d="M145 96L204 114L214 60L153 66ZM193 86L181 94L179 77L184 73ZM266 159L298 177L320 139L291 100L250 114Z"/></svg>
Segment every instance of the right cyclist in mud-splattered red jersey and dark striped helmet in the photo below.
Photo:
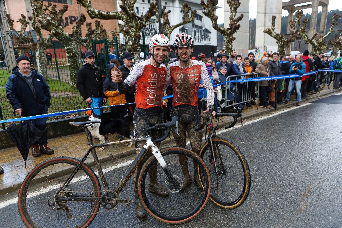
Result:
<svg viewBox="0 0 342 228"><path fill-rule="evenodd" d="M176 145L185 148L186 132L190 138L190 146L192 150L199 154L202 145L202 131L195 131L195 128L201 126L201 118L197 108L197 94L200 81L203 81L207 90L207 104L209 108L214 109L214 90L208 75L206 65L202 61L191 60L193 52L194 39L186 34L177 35L173 42L174 50L179 61L171 63L166 68L166 81L164 90L172 84L173 99L171 117L178 117L178 133L172 134L176 141ZM215 111L213 111L215 117ZM179 156L183 170L183 188L186 188L192 179L189 174L187 159L185 156ZM199 177L194 174L194 180L198 184Z"/></svg>

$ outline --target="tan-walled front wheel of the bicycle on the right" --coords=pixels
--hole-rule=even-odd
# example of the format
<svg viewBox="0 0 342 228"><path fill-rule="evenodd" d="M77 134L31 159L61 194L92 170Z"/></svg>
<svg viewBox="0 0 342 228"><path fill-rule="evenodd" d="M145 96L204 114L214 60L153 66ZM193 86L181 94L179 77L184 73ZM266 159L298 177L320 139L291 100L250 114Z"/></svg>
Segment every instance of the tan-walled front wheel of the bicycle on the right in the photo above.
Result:
<svg viewBox="0 0 342 228"><path fill-rule="evenodd" d="M212 143L219 174L215 172L208 141L199 152L212 178L210 199L222 208L234 209L244 203L248 197L251 185L249 167L242 152L228 140L213 138Z"/></svg>

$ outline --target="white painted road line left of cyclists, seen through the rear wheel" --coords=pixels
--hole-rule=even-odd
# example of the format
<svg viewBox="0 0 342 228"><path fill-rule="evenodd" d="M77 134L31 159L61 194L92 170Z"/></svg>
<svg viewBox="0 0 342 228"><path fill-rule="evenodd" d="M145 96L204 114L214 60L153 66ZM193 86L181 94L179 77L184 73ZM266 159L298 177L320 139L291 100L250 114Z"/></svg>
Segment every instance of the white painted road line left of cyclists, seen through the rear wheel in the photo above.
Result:
<svg viewBox="0 0 342 228"><path fill-rule="evenodd" d="M133 162L134 159L132 160L128 160L126 162L123 162L123 163L120 163L120 164L117 164L117 165L114 165L114 166L111 166L111 167L108 167L106 169L103 169L103 173L106 173L106 172L109 172L109 171L112 171L112 170L116 170L116 169L119 169L123 166L126 166L126 165L130 165L132 162ZM95 174L97 175L98 174L98 171L95 172ZM78 178L75 178L75 179L72 179L70 183L75 183L75 182L78 182L80 180L84 180L86 178L89 178L88 176L81 176L81 177L78 177ZM56 184L56 185L53 185L51 186L51 188L47 189L40 189L40 190L36 190L36 191L32 191L30 193L27 194L27 197L26 198L32 198L32 197L35 197L35 196L38 196L38 195L41 195L45 192L49 192L53 189L57 189L60 187L60 184ZM14 204L14 203L17 203L18 202L18 198L13 198L13 199L9 199L9 200L6 200L2 203L0 203L0 209L6 207L6 206L9 206L11 204Z"/></svg>

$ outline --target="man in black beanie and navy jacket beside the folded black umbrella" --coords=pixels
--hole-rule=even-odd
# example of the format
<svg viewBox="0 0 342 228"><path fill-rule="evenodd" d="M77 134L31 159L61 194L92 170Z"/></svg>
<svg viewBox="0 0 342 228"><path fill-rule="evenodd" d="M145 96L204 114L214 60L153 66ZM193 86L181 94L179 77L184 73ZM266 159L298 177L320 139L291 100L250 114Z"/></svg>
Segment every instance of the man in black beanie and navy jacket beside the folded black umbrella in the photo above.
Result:
<svg viewBox="0 0 342 228"><path fill-rule="evenodd" d="M40 73L31 69L31 60L27 56L19 56L16 63L6 83L6 97L14 111L22 117L47 114L51 100L49 85ZM45 130L47 119L44 117L26 121ZM32 145L32 155L39 157L41 153L53 154L54 150L47 144L48 135L45 133Z"/></svg>

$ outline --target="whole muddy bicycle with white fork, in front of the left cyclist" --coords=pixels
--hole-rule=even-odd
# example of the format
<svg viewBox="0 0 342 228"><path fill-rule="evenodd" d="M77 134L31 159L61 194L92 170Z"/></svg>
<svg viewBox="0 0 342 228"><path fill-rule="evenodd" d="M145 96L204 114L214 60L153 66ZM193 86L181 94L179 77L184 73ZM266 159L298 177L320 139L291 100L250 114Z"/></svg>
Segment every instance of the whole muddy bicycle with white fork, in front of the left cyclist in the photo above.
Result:
<svg viewBox="0 0 342 228"><path fill-rule="evenodd" d="M155 144L168 137L176 120L174 117L169 123L147 128L145 137L99 145L93 145L87 127L100 121L70 122L85 130L90 148L81 160L71 157L51 158L41 162L27 174L18 194L19 214L24 224L28 227L87 227L98 213L113 210L118 204L129 206L131 200L119 198L119 193L139 162L148 156L149 149L153 155L144 163L138 180L139 198L144 209L154 219L168 224L181 224L194 218L209 199L211 179L208 168L190 150L179 147L159 150ZM158 129L165 134L154 139L150 132ZM137 141L146 141L146 144L111 190L95 148ZM98 170L96 173L84 162L90 153ZM180 161L179 155L186 159ZM197 170L198 175L202 176L202 188L196 183L183 187L182 165L185 161L189 170ZM157 164L157 181L170 192L167 197L148 190L148 171L154 164ZM101 184L97 175L100 176Z"/></svg>

